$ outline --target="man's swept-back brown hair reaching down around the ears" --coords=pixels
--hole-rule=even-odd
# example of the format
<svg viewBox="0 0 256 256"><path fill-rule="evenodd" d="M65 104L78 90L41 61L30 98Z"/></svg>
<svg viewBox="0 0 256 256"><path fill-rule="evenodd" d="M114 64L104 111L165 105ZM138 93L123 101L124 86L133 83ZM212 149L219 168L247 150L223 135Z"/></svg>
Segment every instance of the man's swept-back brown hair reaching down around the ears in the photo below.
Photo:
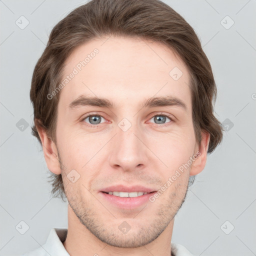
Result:
<svg viewBox="0 0 256 256"><path fill-rule="evenodd" d="M79 45L100 36L141 37L167 45L185 63L190 74L192 118L196 141L201 130L210 134L208 153L222 140L223 128L215 118L216 85L210 63L193 28L160 0L91 0L71 11L52 29L32 76L30 99L34 108L32 134L40 141L36 125L56 142L57 103L47 95L60 83L63 63ZM61 174L53 177L52 193L65 196ZM194 176L191 176L192 180ZM189 179L190 181L190 179ZM191 184L192 182L190 182Z"/></svg>

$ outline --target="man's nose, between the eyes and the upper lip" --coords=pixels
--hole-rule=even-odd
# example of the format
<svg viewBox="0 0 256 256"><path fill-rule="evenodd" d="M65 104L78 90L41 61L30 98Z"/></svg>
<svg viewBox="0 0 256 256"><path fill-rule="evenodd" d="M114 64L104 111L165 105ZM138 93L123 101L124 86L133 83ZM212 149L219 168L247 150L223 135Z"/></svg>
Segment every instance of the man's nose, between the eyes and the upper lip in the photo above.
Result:
<svg viewBox="0 0 256 256"><path fill-rule="evenodd" d="M116 135L112 138L110 146L109 163L113 168L123 171L141 169L148 161L148 149L143 143L145 136L135 125L123 131L117 127Z"/></svg>

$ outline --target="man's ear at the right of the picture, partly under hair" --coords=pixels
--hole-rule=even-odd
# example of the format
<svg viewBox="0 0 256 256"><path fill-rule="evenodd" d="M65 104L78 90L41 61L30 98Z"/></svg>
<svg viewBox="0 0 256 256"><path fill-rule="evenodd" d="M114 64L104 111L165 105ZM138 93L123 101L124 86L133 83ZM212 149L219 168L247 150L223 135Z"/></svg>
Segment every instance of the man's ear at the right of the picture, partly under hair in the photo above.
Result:
<svg viewBox="0 0 256 256"><path fill-rule="evenodd" d="M206 164L209 140L210 134L206 131L201 131L201 143L199 146L197 145L197 150L195 151L195 154L196 152L198 152L198 154L196 158L194 157L195 160L191 164L190 176L196 175L203 170Z"/></svg>

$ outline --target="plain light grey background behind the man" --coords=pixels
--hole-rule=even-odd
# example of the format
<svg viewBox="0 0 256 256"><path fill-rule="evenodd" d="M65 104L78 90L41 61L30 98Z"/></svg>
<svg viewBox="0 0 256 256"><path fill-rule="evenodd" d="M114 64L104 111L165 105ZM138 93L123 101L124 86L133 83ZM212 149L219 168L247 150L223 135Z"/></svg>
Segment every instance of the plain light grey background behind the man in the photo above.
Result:
<svg viewBox="0 0 256 256"><path fill-rule="evenodd" d="M256 1L164 2L199 35L217 84L216 116L227 124L175 217L172 242L203 256L256 255ZM52 27L82 3L0 0L0 255L35 249L52 227L67 227L67 205L52 198L41 147L30 133L29 89ZM29 21L24 29L15 24L21 15ZM226 15L234 21L228 29ZM24 234L15 228L20 221L29 226Z"/></svg>

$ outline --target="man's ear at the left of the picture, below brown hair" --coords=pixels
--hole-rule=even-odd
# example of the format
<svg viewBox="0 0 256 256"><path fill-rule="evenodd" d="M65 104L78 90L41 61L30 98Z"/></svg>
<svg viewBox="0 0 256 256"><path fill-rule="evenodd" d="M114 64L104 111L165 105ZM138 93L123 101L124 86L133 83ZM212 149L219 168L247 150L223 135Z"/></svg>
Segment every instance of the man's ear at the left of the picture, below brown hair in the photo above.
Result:
<svg viewBox="0 0 256 256"><path fill-rule="evenodd" d="M48 137L45 129L41 125L36 125L36 129L42 142L42 150L48 169L55 174L60 174L61 169L59 166L57 147Z"/></svg>

